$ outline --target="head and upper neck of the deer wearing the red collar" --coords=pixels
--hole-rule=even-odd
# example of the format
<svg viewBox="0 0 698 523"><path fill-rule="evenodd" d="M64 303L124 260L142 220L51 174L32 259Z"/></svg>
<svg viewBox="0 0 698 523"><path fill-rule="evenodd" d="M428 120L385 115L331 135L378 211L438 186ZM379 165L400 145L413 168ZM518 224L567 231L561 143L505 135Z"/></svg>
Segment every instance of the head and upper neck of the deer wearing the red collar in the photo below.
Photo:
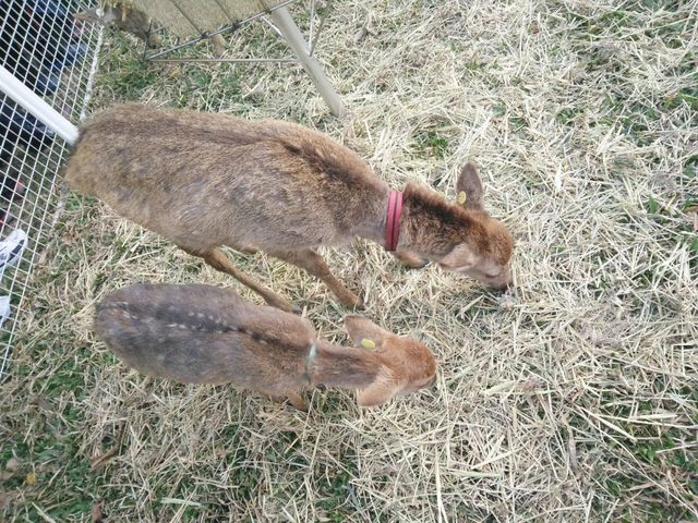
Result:
<svg viewBox="0 0 698 523"><path fill-rule="evenodd" d="M467 163L456 181L458 203L452 204L423 188L408 185L406 198L414 228L436 238L423 239L418 253L442 269L467 275L495 289L512 283L509 259L512 234L482 205L483 190L478 171ZM425 226L425 227L423 227Z"/></svg>

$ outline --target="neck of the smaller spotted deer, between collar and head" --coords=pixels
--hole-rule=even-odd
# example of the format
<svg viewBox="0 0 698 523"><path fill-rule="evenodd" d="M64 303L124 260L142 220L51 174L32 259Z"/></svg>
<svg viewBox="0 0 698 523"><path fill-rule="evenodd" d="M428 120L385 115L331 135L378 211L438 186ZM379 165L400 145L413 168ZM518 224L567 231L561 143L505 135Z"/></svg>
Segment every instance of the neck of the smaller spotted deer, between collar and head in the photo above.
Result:
<svg viewBox="0 0 698 523"><path fill-rule="evenodd" d="M382 364L381 356L366 349L317 340L315 360L311 365L311 382L342 389L363 389L375 380Z"/></svg>

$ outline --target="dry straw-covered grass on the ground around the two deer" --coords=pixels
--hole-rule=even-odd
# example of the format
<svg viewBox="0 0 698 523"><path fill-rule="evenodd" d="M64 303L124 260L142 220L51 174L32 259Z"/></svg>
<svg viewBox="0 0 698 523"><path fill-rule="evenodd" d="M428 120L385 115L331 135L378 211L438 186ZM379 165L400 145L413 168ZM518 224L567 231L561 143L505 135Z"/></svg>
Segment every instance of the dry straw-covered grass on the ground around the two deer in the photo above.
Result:
<svg viewBox="0 0 698 523"><path fill-rule="evenodd" d="M406 271L364 242L328 252L368 316L434 350L440 378L375 410L316 391L304 414L144 379L106 353L89 325L115 289L240 288L71 195L2 388L5 520L89 521L101 507L112 522L695 521L697 9L333 2L318 53L342 120L298 66L144 66L113 35L95 110L134 99L298 121L396 187L417 178L452 196L476 160L517 239L518 284L497 296ZM231 49L285 54L260 26ZM345 339L346 311L322 284L232 255Z"/></svg>

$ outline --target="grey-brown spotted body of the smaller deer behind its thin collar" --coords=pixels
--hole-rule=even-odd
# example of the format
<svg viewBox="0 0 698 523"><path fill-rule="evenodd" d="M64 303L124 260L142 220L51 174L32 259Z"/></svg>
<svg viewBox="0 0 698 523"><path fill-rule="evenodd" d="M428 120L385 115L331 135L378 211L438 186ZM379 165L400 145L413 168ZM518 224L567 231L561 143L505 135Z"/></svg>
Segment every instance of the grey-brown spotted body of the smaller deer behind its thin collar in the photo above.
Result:
<svg viewBox="0 0 698 523"><path fill-rule="evenodd" d="M269 391L304 385L314 330L212 285L134 284L98 304L95 330L129 366L182 382Z"/></svg>

